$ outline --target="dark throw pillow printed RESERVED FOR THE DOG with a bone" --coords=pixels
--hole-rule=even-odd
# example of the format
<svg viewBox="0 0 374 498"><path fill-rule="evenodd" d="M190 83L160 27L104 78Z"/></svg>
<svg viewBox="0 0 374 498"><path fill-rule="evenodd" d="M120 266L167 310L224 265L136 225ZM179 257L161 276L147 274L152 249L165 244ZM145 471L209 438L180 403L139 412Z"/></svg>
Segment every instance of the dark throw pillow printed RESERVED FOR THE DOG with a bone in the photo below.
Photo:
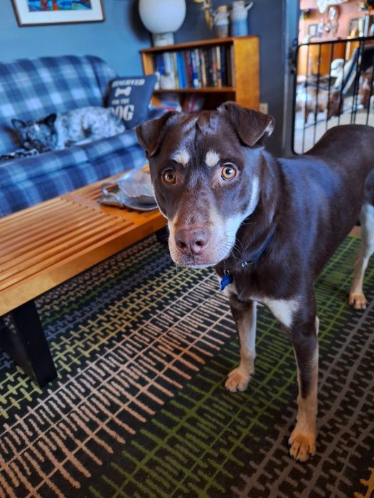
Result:
<svg viewBox="0 0 374 498"><path fill-rule="evenodd" d="M107 107L124 121L127 129L146 121L156 85L155 75L116 78L111 82Z"/></svg>

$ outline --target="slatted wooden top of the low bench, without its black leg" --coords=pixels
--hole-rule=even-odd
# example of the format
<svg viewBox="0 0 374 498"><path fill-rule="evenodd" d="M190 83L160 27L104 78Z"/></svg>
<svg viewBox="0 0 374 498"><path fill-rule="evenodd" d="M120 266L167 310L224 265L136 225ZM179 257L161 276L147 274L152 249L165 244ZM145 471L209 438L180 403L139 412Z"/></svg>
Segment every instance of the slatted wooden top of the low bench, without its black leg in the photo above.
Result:
<svg viewBox="0 0 374 498"><path fill-rule="evenodd" d="M101 183L0 219L0 316L166 225L99 205Z"/></svg>

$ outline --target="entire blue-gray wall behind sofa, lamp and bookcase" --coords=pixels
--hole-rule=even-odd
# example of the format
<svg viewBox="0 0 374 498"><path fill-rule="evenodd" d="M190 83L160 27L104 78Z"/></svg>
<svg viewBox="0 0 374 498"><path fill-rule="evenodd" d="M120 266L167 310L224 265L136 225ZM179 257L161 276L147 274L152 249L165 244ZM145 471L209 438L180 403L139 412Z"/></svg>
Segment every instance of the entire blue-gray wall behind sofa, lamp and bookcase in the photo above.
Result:
<svg viewBox="0 0 374 498"><path fill-rule="evenodd" d="M284 18L287 0L255 0L249 13L250 34L260 37L260 101L269 104L276 119L269 147L282 150L284 107ZM213 0L215 6L231 0ZM104 0L103 23L65 24L20 28L11 0L0 0L0 60L41 55L92 54L105 59L124 76L141 74L139 50L150 45L142 26L137 0ZM201 4L186 0L186 20L176 33L176 43L214 38L206 26Z"/></svg>

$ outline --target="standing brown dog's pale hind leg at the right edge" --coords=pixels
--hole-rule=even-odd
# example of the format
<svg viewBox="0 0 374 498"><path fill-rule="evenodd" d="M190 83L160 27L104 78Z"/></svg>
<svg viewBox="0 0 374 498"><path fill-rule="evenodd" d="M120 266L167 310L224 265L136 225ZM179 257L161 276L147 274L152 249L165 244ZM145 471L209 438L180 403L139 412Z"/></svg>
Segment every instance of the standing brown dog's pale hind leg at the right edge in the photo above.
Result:
<svg viewBox="0 0 374 498"><path fill-rule="evenodd" d="M364 310L366 308L367 301L363 293L363 278L369 258L374 252L374 206L367 200L361 208L360 223L361 247L353 271L353 283L348 301L355 310Z"/></svg>

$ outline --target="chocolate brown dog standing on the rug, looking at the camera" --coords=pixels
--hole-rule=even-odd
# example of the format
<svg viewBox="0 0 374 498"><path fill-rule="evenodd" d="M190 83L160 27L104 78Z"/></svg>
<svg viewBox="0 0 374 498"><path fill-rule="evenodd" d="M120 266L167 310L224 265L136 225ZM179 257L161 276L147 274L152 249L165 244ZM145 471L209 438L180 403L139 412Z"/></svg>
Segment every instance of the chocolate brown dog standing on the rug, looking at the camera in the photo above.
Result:
<svg viewBox="0 0 374 498"><path fill-rule="evenodd" d="M169 220L176 264L215 266L240 337L240 365L226 387L254 373L256 305L282 323L298 368L291 455L316 449L318 328L314 282L361 210L363 247L351 303L365 307L362 279L374 251L374 129L329 130L304 156L275 159L263 146L274 119L233 102L217 111L167 112L137 127L156 200Z"/></svg>

